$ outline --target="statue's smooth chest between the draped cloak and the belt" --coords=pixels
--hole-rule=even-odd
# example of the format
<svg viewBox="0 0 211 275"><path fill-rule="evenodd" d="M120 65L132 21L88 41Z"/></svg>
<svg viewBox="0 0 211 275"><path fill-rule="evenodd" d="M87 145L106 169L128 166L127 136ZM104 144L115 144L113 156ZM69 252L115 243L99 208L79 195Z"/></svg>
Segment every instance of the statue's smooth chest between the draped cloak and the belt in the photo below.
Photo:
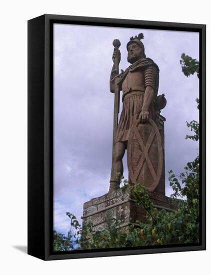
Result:
<svg viewBox="0 0 211 275"><path fill-rule="evenodd" d="M129 71L122 82L122 90L134 88L134 86L144 87L144 72L142 69Z"/></svg>

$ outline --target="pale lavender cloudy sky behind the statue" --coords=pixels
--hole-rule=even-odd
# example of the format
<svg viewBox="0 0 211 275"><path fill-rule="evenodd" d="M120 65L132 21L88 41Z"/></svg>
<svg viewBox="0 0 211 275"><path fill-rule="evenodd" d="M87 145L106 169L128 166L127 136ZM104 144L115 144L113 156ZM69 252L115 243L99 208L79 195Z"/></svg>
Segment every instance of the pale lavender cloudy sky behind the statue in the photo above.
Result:
<svg viewBox="0 0 211 275"><path fill-rule="evenodd" d="M185 140L185 121L198 120L196 75L186 77L182 52L198 59L198 33L120 27L54 24L54 228L66 233L74 213L81 221L83 203L103 195L109 186L112 150L113 94L109 92L112 41L121 42L119 68L125 69L126 43L143 32L146 57L159 66L159 90L165 116L165 190L171 194L167 170L183 171L198 151ZM121 109L121 106L120 106ZM127 178L126 154L124 176Z"/></svg>

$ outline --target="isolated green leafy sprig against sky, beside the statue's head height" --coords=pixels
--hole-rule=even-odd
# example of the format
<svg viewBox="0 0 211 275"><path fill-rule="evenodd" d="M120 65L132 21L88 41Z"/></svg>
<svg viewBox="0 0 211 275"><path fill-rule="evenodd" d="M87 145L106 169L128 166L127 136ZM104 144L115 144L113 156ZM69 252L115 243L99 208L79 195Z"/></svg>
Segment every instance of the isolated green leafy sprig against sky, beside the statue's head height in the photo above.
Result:
<svg viewBox="0 0 211 275"><path fill-rule="evenodd" d="M199 78L199 62L196 59L182 53L180 64L184 75L189 76L190 74L194 74L196 72Z"/></svg>

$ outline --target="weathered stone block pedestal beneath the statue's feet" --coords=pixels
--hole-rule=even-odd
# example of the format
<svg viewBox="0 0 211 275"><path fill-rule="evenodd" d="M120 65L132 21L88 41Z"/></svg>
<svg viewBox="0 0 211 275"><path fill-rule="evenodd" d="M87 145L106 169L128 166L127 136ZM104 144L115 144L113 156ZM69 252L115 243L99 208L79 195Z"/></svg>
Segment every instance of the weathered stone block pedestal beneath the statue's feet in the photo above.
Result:
<svg viewBox="0 0 211 275"><path fill-rule="evenodd" d="M168 211L176 209L175 201L171 201L169 197L156 192L150 192L149 194L154 207ZM128 191L122 193L119 190L106 193L85 202L83 204L82 224L91 221L93 223L93 230L101 231L107 226L106 220L118 218L121 230L127 231L128 226L135 224L136 220L145 222L145 214L144 208L135 205Z"/></svg>

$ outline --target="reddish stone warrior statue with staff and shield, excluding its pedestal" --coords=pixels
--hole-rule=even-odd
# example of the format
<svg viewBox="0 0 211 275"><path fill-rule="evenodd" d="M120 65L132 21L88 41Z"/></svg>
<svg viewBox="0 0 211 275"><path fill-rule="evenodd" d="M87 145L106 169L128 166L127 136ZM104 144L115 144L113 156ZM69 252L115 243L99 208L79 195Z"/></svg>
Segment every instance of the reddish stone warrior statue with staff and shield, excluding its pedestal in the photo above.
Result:
<svg viewBox="0 0 211 275"><path fill-rule="evenodd" d="M130 184L144 184L150 191L164 194L164 120L160 109L166 104L164 94L157 96L159 68L145 56L143 34L130 37L126 45L125 71L118 72L120 51L118 39L113 41L113 66L110 91L114 98L113 151L109 192L119 188L123 174L122 158L127 149ZM122 111L118 122L119 91ZM117 176L118 175L118 176Z"/></svg>

